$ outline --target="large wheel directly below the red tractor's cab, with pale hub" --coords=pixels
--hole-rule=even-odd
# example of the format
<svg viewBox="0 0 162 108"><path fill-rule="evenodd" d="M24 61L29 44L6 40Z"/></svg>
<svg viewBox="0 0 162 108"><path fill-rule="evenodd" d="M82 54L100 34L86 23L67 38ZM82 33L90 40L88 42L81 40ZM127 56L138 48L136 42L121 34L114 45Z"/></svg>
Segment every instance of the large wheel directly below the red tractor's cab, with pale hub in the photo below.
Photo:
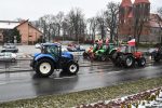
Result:
<svg viewBox="0 0 162 108"><path fill-rule="evenodd" d="M124 58L124 66L125 67L133 67L134 66L134 63L135 63L135 59L132 55L126 55L125 58Z"/></svg>

